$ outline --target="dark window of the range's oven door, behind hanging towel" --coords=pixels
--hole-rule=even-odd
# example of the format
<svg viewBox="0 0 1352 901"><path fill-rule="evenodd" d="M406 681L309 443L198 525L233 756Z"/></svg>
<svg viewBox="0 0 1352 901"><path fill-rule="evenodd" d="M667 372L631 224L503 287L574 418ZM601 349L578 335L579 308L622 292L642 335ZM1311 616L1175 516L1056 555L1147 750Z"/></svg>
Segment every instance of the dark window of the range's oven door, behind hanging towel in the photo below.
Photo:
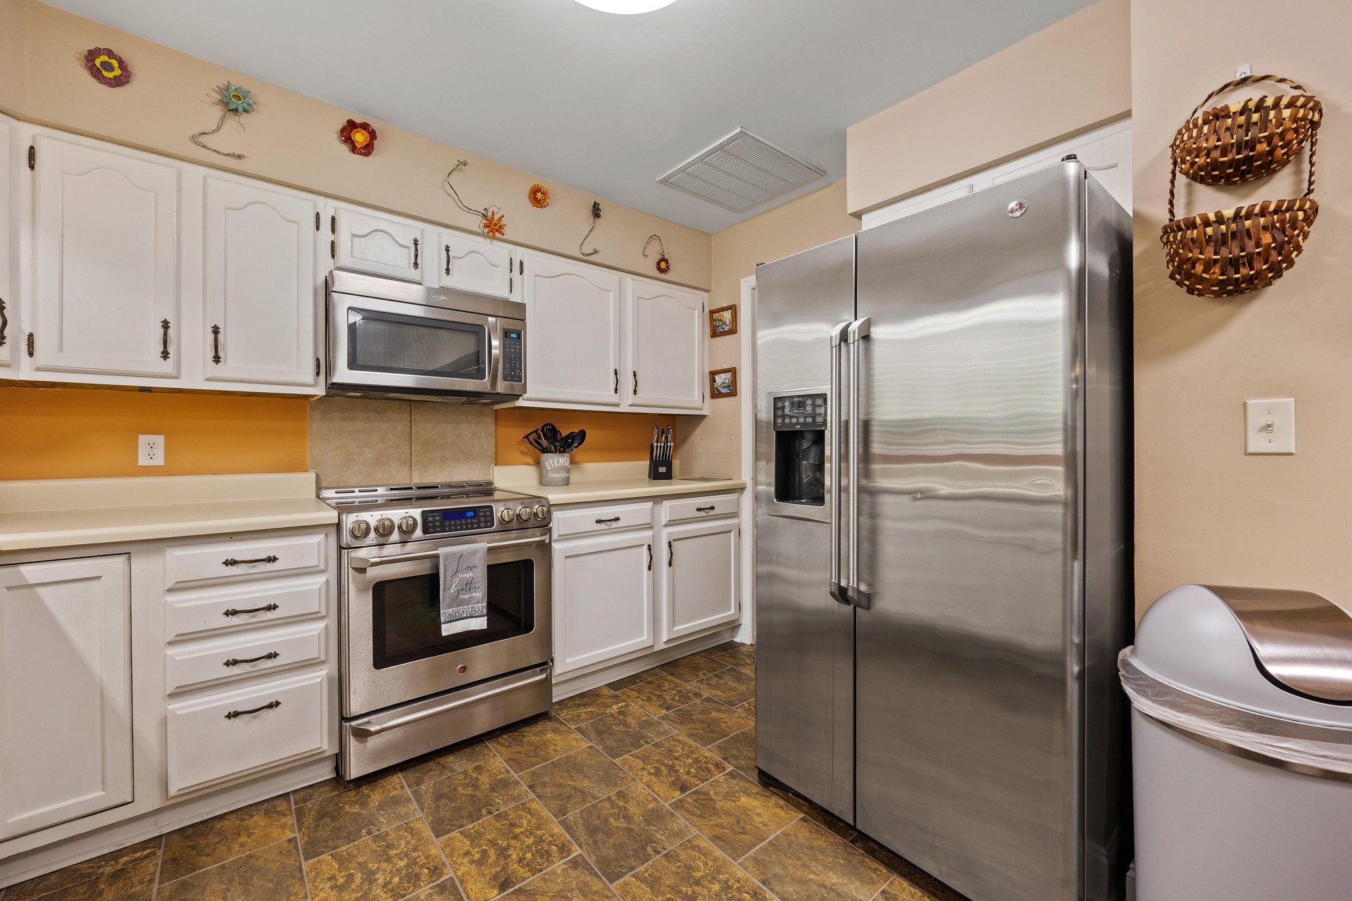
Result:
<svg viewBox="0 0 1352 901"><path fill-rule="evenodd" d="M372 601L372 661L377 670L491 644L535 628L535 565L488 565L488 628L441 634L441 578L434 570L376 582Z"/></svg>

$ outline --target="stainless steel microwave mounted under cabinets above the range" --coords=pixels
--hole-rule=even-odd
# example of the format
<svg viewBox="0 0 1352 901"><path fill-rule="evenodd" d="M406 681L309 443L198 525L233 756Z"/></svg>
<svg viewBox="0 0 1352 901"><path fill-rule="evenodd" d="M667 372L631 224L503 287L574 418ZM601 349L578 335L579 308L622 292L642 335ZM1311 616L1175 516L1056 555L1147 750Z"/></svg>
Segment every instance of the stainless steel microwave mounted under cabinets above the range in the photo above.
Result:
<svg viewBox="0 0 1352 901"><path fill-rule="evenodd" d="M493 404L526 393L526 304L333 272L327 393Z"/></svg>

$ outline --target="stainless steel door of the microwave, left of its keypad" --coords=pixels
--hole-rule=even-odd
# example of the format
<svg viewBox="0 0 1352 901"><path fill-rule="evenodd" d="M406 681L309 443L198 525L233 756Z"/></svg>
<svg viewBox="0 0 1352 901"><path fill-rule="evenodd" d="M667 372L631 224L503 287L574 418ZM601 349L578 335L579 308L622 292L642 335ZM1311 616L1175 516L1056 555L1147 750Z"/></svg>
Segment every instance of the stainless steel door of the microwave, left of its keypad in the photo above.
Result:
<svg viewBox="0 0 1352 901"><path fill-rule="evenodd" d="M499 393L502 321L460 309L329 294L329 384Z"/></svg>

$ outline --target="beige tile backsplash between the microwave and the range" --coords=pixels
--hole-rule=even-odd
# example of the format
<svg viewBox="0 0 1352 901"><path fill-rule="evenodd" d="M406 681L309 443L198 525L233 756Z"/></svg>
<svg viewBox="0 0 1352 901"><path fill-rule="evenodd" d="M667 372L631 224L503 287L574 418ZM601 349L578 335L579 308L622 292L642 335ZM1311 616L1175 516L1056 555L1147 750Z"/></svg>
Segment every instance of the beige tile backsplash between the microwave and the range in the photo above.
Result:
<svg viewBox="0 0 1352 901"><path fill-rule="evenodd" d="M364 397L310 404L310 467L322 488L485 480L492 466L491 407Z"/></svg>

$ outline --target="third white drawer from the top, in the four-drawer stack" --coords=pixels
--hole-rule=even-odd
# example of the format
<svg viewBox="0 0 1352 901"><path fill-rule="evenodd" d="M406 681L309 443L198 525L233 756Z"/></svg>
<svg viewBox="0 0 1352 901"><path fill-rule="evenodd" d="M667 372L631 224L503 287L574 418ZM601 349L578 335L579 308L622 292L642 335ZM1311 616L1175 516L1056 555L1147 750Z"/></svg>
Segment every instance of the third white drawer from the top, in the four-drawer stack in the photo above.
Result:
<svg viewBox="0 0 1352 901"><path fill-rule="evenodd" d="M170 647L165 651L165 694L211 682L235 682L304 663L322 663L326 629L327 624L318 620Z"/></svg>

